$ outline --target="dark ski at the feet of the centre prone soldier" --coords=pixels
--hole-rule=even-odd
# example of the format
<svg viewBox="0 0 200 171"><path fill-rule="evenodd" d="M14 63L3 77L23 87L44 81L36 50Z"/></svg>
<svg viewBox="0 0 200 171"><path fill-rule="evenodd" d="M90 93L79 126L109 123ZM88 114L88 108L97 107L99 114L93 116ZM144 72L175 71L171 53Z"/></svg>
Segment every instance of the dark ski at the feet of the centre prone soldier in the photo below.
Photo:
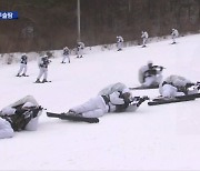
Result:
<svg viewBox="0 0 200 171"><path fill-rule="evenodd" d="M88 123L99 122L98 118L73 117L73 115L66 115L64 113L47 112L47 115L51 118L59 118L61 120L69 120L69 121L79 121L79 122L88 122Z"/></svg>

